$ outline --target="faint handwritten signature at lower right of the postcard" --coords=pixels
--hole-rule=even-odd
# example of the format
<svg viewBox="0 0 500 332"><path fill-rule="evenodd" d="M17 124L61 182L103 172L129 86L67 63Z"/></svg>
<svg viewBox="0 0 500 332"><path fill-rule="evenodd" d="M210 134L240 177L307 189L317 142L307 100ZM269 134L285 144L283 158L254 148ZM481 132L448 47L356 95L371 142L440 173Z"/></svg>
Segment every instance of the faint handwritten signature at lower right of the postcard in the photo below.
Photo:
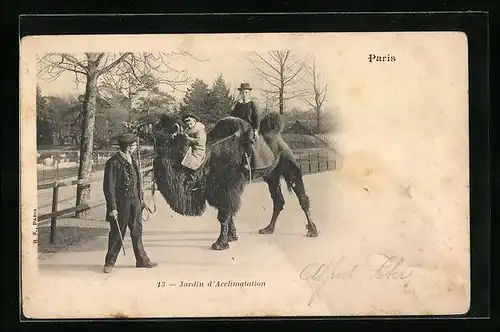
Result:
<svg viewBox="0 0 500 332"><path fill-rule="evenodd" d="M365 275L369 280L406 280L412 276L412 270L404 266L404 258L376 254L379 261L374 263L373 256L367 258L370 273ZM300 272L301 280L312 280L317 282L317 287L309 299L310 306L318 298L325 285L331 280L349 280L363 276L360 264L347 262L342 256L339 260L331 260L328 263L311 263Z"/></svg>

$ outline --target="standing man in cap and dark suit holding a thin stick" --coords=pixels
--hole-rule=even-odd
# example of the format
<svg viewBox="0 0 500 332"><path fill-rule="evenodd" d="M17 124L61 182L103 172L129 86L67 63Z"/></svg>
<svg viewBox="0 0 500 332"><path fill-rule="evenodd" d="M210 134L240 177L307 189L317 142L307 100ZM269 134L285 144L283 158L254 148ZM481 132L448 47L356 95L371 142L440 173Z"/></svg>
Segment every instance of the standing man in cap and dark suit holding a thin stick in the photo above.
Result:
<svg viewBox="0 0 500 332"><path fill-rule="evenodd" d="M143 192L139 167L132 157L132 153L137 149L137 137L124 134L118 143L120 150L109 158L104 168L106 221L110 223L104 273L111 272L115 265L127 226L130 229L136 267L152 268L157 265L149 259L142 243Z"/></svg>

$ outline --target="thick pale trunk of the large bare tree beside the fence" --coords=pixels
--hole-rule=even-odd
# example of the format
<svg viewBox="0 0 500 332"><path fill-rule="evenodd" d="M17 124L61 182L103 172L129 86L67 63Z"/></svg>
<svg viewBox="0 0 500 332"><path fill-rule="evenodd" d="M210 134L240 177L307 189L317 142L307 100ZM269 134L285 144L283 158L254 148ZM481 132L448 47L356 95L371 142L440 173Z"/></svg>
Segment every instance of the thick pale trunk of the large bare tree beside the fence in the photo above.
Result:
<svg viewBox="0 0 500 332"><path fill-rule="evenodd" d="M80 167L78 179L88 180L92 172L92 152L94 150L94 125L97 100L97 63L95 57L89 55L85 100L83 101L83 122L80 139ZM78 185L76 188L76 205L85 204L90 198L90 183ZM86 212L77 212L76 217L83 217Z"/></svg>

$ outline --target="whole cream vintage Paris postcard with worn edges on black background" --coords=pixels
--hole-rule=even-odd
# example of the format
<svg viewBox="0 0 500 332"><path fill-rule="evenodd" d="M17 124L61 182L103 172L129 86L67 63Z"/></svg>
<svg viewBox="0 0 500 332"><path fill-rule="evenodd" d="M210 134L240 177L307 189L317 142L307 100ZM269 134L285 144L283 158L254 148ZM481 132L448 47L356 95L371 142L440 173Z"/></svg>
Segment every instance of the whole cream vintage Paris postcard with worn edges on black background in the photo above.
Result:
<svg viewBox="0 0 500 332"><path fill-rule="evenodd" d="M27 318L465 314L467 36L30 36Z"/></svg>

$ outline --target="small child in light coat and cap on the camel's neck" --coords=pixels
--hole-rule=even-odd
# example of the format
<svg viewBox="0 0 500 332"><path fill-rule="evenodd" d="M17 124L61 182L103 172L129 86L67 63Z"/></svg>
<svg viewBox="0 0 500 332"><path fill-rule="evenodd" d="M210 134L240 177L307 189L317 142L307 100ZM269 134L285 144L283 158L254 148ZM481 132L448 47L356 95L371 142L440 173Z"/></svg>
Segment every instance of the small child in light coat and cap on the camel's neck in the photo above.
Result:
<svg viewBox="0 0 500 332"><path fill-rule="evenodd" d="M184 134L189 142L189 149L181 164L189 170L189 178L186 181L191 182L195 180L195 172L205 160L207 133L205 125L196 115L187 114L183 121L187 126Z"/></svg>

